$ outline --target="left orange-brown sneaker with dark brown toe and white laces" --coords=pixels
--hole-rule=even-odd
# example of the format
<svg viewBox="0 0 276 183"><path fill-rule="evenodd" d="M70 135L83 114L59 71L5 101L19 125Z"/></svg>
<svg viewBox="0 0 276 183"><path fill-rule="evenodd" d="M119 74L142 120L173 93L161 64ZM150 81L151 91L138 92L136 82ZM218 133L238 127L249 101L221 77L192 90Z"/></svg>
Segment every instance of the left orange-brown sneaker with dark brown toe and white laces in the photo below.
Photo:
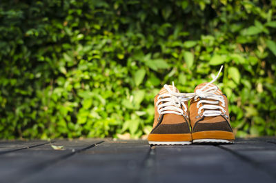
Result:
<svg viewBox="0 0 276 183"><path fill-rule="evenodd" d="M152 145L191 144L188 124L188 102L179 97L179 90L165 85L155 96L155 121L148 135Z"/></svg>

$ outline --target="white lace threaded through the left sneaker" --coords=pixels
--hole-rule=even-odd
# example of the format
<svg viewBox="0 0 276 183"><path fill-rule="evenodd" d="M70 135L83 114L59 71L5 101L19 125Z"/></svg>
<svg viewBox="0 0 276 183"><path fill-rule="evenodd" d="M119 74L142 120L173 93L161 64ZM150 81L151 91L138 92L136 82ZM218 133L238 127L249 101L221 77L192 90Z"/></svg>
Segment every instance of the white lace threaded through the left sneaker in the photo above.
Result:
<svg viewBox="0 0 276 183"><path fill-rule="evenodd" d="M186 101L184 98L180 97L180 93L175 92L175 84L172 82L172 88L173 90L170 90L168 85L164 85L164 88L168 91L168 93L161 94L157 97L157 111L159 115L164 114L176 114L176 115L184 115L187 117L187 107L184 104ZM184 110L182 110L181 105L184 107Z"/></svg>

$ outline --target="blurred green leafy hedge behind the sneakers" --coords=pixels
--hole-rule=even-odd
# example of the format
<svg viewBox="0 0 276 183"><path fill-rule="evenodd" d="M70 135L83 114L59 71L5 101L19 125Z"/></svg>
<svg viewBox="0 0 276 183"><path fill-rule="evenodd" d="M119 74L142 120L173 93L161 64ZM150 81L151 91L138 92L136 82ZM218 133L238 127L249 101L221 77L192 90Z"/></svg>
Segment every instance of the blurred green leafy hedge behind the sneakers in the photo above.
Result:
<svg viewBox="0 0 276 183"><path fill-rule="evenodd" d="M275 33L276 1L1 1L0 138L141 137L221 64L236 135L276 135Z"/></svg>

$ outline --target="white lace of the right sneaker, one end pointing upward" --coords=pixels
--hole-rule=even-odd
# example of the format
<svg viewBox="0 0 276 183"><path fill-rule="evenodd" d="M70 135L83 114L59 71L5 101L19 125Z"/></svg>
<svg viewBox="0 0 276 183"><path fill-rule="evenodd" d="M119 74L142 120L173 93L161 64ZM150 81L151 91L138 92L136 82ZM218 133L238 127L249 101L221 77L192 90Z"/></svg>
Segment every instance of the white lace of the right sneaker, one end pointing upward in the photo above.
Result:
<svg viewBox="0 0 276 183"><path fill-rule="evenodd" d="M219 73L217 73L217 76L212 81L210 81L208 84L206 84L204 87L197 89L195 91L195 93L183 93L181 96L185 99L194 98L195 101L197 101L197 98L199 98L199 97L201 98L199 100L199 102L197 102L197 108L198 108L197 113L199 114L200 117L202 117L202 116L206 116L206 117L218 116L218 115L224 115L224 113L226 113L226 110L224 110L224 108L223 108L223 107L225 107L224 97L221 95L215 94L219 88L217 86L207 88L210 84L213 84L213 82L215 82L217 80L223 67L224 66L221 66L221 68L219 69ZM207 88L207 89L205 89L205 88ZM210 101L207 99L213 99L214 101ZM223 107L218 105L219 102L221 102L221 106L223 106ZM204 103L205 105L199 107L199 105L201 103ZM207 109L207 110L204 110L204 109ZM217 110L217 109L219 109L219 110ZM204 113L201 114L201 110L204 110Z"/></svg>

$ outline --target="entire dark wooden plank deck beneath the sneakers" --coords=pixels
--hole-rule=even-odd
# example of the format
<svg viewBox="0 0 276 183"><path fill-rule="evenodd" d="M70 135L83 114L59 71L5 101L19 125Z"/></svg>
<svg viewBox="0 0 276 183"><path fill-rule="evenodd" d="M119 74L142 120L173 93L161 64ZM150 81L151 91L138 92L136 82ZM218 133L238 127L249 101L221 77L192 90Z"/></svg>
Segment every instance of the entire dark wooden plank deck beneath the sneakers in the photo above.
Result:
<svg viewBox="0 0 276 183"><path fill-rule="evenodd" d="M276 138L152 147L142 140L0 141L0 182L276 182Z"/></svg>

